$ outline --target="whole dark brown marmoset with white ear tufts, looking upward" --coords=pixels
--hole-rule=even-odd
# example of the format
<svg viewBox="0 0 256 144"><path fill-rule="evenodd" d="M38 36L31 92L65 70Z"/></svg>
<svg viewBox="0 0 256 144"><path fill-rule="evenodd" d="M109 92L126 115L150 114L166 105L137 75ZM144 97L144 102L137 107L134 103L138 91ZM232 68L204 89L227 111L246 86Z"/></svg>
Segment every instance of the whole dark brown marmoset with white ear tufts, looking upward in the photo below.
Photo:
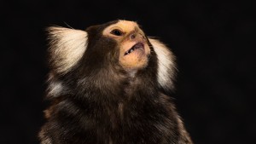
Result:
<svg viewBox="0 0 256 144"><path fill-rule="evenodd" d="M42 144L192 144L162 92L175 71L163 43L125 20L49 35L52 103Z"/></svg>

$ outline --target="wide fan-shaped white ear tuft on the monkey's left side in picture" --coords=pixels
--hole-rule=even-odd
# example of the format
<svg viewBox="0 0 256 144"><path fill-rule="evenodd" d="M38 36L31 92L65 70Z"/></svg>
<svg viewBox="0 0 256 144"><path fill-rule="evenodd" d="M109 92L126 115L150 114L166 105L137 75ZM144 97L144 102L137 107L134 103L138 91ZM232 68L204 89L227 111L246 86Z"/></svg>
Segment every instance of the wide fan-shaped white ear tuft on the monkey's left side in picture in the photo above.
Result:
<svg viewBox="0 0 256 144"><path fill-rule="evenodd" d="M52 26L49 31L50 65L55 72L68 72L84 55L87 32Z"/></svg>

